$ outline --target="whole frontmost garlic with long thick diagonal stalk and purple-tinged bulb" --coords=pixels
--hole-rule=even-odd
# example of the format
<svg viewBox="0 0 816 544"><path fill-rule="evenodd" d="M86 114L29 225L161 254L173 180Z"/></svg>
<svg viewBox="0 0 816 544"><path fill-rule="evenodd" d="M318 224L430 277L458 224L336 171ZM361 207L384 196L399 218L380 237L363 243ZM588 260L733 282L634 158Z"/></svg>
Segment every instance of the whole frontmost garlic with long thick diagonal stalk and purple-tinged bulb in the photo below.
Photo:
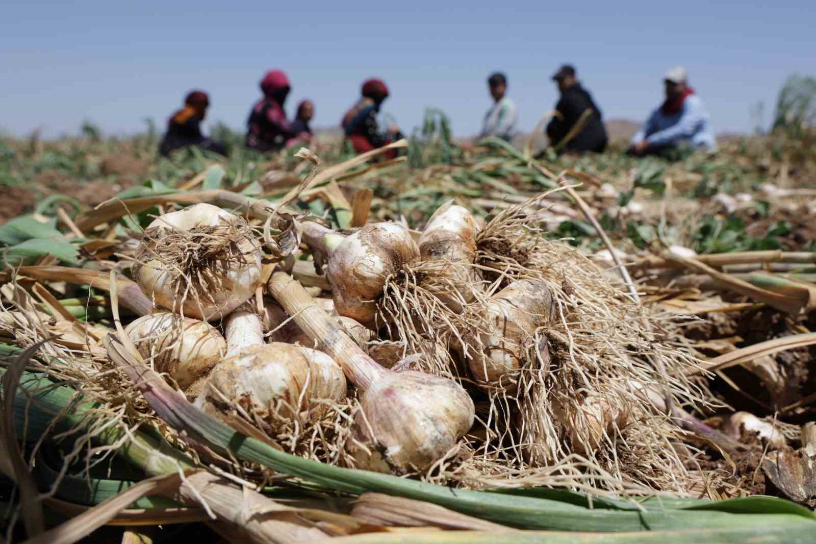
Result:
<svg viewBox="0 0 816 544"><path fill-rule="evenodd" d="M470 429L473 401L458 383L381 367L286 273L273 273L268 288L360 390L361 411L348 447L358 468L393 473L427 469Z"/></svg>

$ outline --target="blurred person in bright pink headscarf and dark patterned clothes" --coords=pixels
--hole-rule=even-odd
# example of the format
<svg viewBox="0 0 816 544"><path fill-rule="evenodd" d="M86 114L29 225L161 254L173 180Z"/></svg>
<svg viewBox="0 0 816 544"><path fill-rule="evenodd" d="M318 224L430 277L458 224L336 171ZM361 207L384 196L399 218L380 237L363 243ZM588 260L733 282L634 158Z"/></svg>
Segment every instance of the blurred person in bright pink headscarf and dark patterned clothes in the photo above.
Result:
<svg viewBox="0 0 816 544"><path fill-rule="evenodd" d="M246 146L259 151L278 151L297 136L283 104L289 96L289 78L281 70L272 70L260 81L264 97L258 100L246 120Z"/></svg>

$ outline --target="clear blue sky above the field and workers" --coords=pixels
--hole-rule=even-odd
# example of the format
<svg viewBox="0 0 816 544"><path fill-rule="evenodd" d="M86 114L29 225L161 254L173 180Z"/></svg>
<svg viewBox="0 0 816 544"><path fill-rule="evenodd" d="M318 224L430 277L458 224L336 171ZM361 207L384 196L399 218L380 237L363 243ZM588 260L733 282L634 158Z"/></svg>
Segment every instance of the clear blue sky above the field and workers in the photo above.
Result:
<svg viewBox="0 0 816 544"><path fill-rule="evenodd" d="M290 114L315 100L314 126L336 125L364 78L384 78L384 110L404 129L434 105L455 132L478 131L485 78L508 74L521 127L557 100L549 77L573 63L606 118L641 121L672 65L712 113L716 132L769 119L788 74L816 73L810 2L2 2L0 130L56 136L82 119L105 132L163 128L192 88L206 123L243 127L266 69L292 81Z"/></svg>

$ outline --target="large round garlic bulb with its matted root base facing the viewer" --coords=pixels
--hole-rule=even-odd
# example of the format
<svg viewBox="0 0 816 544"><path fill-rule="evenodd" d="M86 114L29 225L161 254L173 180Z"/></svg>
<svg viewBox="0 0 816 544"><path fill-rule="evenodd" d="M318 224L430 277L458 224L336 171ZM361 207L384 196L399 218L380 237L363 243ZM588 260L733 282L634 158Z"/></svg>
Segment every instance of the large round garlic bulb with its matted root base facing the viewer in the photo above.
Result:
<svg viewBox="0 0 816 544"><path fill-rule="evenodd" d="M178 249L168 243L168 236L181 239L191 230L200 236ZM202 240L217 240L223 251L206 253ZM158 217L145 230L136 258L134 279L147 297L162 308L206 321L229 314L260 285L261 256L249 225L207 203Z"/></svg>

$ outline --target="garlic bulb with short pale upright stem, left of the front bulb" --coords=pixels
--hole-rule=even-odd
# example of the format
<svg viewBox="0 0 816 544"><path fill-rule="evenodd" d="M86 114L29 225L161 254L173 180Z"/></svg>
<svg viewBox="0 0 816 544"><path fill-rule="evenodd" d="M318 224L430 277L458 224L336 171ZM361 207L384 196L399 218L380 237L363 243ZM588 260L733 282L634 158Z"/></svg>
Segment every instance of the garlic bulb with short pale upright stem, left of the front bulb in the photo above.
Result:
<svg viewBox="0 0 816 544"><path fill-rule="evenodd" d="M196 400L200 407L218 413L235 403L274 427L279 417L322 417L328 407L319 401L345 398L343 371L330 356L281 342L264 344L256 314L236 310L224 330L227 358L211 372L209 387Z"/></svg>

